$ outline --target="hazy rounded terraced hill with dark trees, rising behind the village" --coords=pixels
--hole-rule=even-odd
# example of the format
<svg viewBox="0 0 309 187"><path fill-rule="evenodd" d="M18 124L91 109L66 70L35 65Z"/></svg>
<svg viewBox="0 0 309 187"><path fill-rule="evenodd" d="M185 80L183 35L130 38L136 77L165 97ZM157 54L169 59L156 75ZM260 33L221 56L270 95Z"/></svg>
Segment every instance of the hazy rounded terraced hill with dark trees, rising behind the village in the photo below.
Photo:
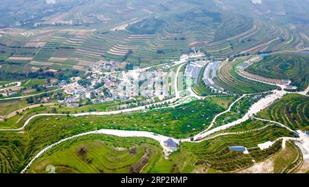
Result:
<svg viewBox="0 0 309 187"><path fill-rule="evenodd" d="M158 19L154 25L158 22L161 23L162 20ZM150 26L155 27L154 25ZM142 24L139 29L134 26L132 29L128 27L128 30L144 34L141 32ZM159 34L133 51L128 60L136 62L141 58L142 62L151 62L151 58L158 58L164 62L175 59L190 47L198 47L205 53L218 56L245 51L255 52L264 49L265 42L284 35L277 27L255 22L239 14L211 12L198 8L163 18L159 27ZM257 45L260 47L252 49Z"/></svg>

